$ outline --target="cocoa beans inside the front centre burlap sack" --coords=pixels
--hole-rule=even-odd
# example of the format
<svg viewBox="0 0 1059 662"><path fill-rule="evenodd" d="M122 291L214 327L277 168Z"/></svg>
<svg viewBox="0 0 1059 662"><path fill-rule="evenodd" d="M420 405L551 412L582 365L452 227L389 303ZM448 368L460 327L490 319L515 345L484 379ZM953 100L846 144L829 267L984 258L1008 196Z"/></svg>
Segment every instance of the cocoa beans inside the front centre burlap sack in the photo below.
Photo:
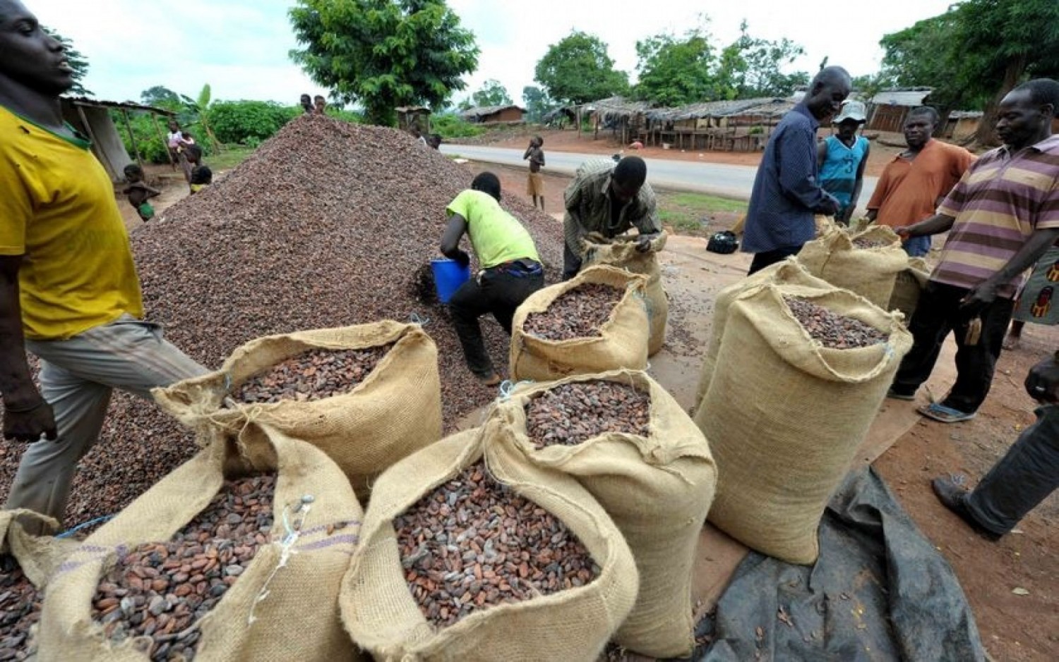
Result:
<svg viewBox="0 0 1059 662"><path fill-rule="evenodd" d="M566 525L498 482L482 462L419 499L394 529L412 596L438 628L599 575Z"/></svg>

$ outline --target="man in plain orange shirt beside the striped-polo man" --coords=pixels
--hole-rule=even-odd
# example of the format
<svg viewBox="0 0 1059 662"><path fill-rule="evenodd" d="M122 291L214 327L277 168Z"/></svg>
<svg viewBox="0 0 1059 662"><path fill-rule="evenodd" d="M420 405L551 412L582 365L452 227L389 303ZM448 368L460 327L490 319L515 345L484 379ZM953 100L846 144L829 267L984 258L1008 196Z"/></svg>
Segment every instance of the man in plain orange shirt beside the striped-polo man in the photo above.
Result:
<svg viewBox="0 0 1059 662"><path fill-rule="evenodd" d="M972 163L974 154L963 147L936 141L937 111L930 106L913 108L904 121L909 148L894 158L879 178L867 219L891 227L904 227L934 215ZM930 237L913 237L904 244L912 257L930 253Z"/></svg>

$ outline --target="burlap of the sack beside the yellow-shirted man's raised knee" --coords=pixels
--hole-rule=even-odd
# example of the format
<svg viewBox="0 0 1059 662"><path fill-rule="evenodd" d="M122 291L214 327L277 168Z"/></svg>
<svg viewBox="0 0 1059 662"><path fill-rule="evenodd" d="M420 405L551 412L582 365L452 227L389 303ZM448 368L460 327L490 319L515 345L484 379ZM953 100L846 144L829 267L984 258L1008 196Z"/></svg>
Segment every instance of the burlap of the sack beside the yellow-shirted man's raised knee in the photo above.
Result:
<svg viewBox="0 0 1059 662"><path fill-rule="evenodd" d="M351 392L311 402L241 404L229 396L251 376L303 351L363 349L394 343ZM388 466L442 438L437 348L416 325L385 320L257 338L239 347L220 370L155 389L165 411L192 429L237 434L262 447L264 423L323 449L345 472L357 495Z"/></svg>

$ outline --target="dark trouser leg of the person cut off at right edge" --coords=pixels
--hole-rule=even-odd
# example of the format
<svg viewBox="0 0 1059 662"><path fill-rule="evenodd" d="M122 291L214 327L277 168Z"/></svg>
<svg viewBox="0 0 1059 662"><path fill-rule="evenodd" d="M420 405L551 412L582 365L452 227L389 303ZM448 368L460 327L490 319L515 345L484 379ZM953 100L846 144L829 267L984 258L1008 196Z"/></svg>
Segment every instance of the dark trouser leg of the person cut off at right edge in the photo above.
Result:
<svg viewBox="0 0 1059 662"><path fill-rule="evenodd" d="M1037 422L989 470L967 508L993 533L1007 533L1059 488L1059 405L1037 409Z"/></svg>

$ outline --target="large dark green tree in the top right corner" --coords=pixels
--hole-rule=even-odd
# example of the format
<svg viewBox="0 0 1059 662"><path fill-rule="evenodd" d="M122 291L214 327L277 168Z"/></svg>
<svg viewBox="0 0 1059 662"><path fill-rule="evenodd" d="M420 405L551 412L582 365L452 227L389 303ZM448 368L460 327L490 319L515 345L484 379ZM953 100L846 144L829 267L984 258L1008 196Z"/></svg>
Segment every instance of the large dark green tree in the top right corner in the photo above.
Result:
<svg viewBox="0 0 1059 662"><path fill-rule="evenodd" d="M1059 76L1059 2L965 0L880 41L883 72L899 86L930 86L944 109L985 111L976 139L995 142L1000 99L1030 77Z"/></svg>

